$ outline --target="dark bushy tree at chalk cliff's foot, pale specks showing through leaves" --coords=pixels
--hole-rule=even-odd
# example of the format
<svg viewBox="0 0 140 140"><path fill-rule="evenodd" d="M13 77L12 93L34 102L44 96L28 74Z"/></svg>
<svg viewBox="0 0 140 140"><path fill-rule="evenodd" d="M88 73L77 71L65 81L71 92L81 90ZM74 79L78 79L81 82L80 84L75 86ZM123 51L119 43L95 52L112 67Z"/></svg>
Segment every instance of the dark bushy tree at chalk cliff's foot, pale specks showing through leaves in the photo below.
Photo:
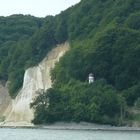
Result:
<svg viewBox="0 0 140 140"><path fill-rule="evenodd" d="M59 114L61 112L61 106L57 106L57 103L60 100L58 91L49 89L47 92L39 92L39 94L40 95L36 98L36 100L31 103L31 107L35 109L35 119L33 120L33 123L41 124L54 122L57 121L58 117L60 119ZM48 105L52 107L48 109ZM56 108L53 108L53 106Z"/></svg>

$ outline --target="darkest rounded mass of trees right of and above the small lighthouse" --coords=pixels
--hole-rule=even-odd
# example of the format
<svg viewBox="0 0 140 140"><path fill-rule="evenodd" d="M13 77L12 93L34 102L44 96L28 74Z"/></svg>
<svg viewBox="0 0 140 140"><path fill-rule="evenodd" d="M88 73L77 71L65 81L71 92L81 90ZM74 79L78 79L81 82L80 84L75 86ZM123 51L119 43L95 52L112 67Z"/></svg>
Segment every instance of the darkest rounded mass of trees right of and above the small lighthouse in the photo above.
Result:
<svg viewBox="0 0 140 140"><path fill-rule="evenodd" d="M140 34L127 29L111 29L97 40L92 55L93 71L117 89L126 89L140 80ZM133 48L132 46L135 46Z"/></svg>

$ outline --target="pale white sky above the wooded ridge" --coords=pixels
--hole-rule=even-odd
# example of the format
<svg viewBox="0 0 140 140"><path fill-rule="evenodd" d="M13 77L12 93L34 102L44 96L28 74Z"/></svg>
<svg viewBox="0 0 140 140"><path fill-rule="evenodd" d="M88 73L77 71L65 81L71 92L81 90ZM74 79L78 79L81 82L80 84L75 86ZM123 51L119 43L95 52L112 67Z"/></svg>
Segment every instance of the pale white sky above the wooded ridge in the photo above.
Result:
<svg viewBox="0 0 140 140"><path fill-rule="evenodd" d="M12 14L45 17L56 15L80 0L0 0L0 16Z"/></svg>

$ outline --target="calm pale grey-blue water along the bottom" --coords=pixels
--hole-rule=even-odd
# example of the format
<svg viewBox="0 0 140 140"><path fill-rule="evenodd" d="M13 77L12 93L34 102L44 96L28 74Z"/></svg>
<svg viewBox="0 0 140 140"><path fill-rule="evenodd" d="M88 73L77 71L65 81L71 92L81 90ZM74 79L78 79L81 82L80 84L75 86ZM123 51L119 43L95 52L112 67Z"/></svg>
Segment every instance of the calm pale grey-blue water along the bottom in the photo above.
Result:
<svg viewBox="0 0 140 140"><path fill-rule="evenodd" d="M140 131L0 129L0 140L140 140Z"/></svg>

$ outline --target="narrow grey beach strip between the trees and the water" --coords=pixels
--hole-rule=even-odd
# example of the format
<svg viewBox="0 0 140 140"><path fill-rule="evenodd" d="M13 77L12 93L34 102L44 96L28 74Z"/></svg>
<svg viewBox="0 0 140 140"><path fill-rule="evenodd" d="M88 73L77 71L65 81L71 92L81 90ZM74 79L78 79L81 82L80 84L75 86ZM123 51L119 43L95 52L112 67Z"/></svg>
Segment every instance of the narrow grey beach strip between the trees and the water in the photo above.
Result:
<svg viewBox="0 0 140 140"><path fill-rule="evenodd" d="M54 124L46 125L0 125L0 128L4 129L46 129L46 130L80 130L80 131L138 131L140 132L140 127L129 127L129 126L111 126L111 125L99 125L93 123L64 123L58 122Z"/></svg>

